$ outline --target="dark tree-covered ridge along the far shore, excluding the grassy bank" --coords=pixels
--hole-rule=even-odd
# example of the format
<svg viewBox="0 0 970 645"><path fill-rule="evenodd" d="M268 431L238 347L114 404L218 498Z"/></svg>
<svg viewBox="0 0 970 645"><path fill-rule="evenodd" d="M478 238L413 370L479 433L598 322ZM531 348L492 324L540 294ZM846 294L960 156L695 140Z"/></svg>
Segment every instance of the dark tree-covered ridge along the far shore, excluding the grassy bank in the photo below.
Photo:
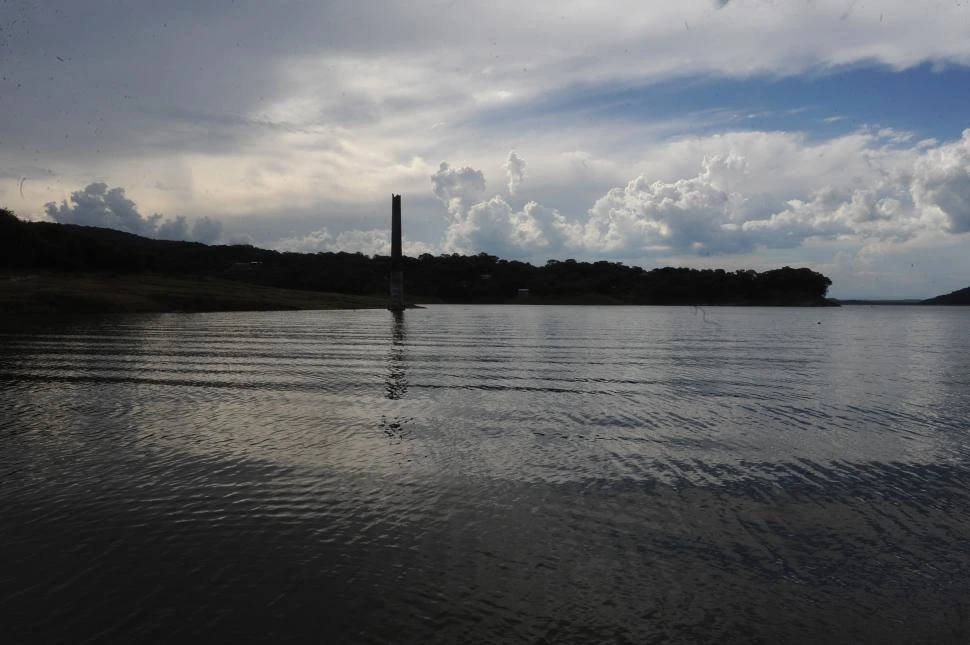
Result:
<svg viewBox="0 0 970 645"><path fill-rule="evenodd" d="M23 222L0 209L0 268L71 273L157 273L228 278L267 287L385 294L387 256L281 253L248 245L207 246L111 229ZM480 253L404 259L414 302L823 305L831 285L810 269L656 268L549 260L543 266Z"/></svg>

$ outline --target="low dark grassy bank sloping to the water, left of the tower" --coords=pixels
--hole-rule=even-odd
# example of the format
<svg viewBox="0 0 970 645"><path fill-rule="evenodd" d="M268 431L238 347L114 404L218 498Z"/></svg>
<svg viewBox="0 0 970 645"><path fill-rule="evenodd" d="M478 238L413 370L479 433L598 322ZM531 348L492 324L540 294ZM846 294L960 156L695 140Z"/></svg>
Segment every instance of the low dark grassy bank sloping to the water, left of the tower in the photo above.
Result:
<svg viewBox="0 0 970 645"><path fill-rule="evenodd" d="M209 277L0 273L0 313L373 309L383 298L261 287Z"/></svg>

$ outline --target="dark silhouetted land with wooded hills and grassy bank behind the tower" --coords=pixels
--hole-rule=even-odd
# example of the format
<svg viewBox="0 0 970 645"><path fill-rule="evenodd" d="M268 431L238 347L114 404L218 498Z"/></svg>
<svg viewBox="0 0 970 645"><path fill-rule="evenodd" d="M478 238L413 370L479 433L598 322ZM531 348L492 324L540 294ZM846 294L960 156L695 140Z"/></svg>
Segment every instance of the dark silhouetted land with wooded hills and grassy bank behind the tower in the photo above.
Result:
<svg viewBox="0 0 970 645"><path fill-rule="evenodd" d="M834 304L825 297L831 280L805 268L761 273L671 267L645 270L619 262L572 259L534 266L485 253L424 254L402 261L404 292L413 302ZM390 258L154 240L112 229L24 222L0 209L3 269L7 273L0 287L0 307L6 311L17 310L19 301L36 304L38 300L48 309L66 311L312 309L386 306ZM42 282L22 279L35 274L43 277ZM82 276L86 276L83 281ZM165 286L166 280L178 284ZM34 286L40 284L47 285L46 295L37 295ZM124 291L122 284L128 297L118 295ZM333 294L342 294L343 299ZM347 296L365 298L348 300ZM279 306L274 305L274 298L279 299Z"/></svg>

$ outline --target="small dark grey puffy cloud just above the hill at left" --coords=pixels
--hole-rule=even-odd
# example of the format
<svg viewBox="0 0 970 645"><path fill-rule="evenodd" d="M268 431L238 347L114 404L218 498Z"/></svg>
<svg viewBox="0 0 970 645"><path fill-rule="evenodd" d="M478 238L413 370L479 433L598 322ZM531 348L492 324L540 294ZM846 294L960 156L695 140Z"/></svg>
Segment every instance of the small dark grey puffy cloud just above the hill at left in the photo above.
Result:
<svg viewBox="0 0 970 645"><path fill-rule="evenodd" d="M94 182L82 190L71 193L70 203L48 202L44 205L47 216L61 224L113 228L143 237L162 240L193 240L211 244L222 235L222 224L215 219L203 217L191 226L186 217L163 220L158 213L144 216L138 206L121 187L108 188L104 182Z"/></svg>

